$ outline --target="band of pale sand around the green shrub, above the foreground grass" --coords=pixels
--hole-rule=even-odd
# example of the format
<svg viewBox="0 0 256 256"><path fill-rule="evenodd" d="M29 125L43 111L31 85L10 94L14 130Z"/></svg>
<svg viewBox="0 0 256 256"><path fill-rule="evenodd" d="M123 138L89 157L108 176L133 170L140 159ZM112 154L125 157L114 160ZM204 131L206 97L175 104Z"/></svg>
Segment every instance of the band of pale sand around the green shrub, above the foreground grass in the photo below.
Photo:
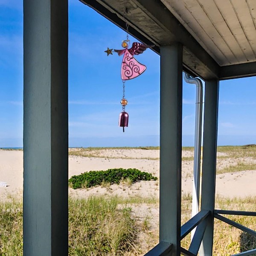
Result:
<svg viewBox="0 0 256 256"><path fill-rule="evenodd" d="M76 149L70 149L76 150ZM159 150L147 149L102 149L90 151L90 157L69 156L69 177L90 170L109 168L137 168L159 177ZM192 192L193 151L182 152L182 193ZM235 166L238 163L256 164L255 157L227 157L226 153L217 155L217 169ZM216 195L227 197L247 197L256 195L256 170L227 172L216 177ZM0 187L0 197L22 195L23 189L23 151L0 150L0 182L7 187ZM90 189L69 189L72 196L119 195L124 197L159 197L159 180L141 181L132 185L97 186Z"/></svg>

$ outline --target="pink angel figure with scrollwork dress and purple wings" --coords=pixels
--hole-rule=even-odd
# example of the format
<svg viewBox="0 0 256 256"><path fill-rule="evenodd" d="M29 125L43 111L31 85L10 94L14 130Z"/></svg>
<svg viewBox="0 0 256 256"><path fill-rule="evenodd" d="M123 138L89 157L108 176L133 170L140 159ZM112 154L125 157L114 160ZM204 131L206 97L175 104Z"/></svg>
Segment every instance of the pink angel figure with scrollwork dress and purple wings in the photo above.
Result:
<svg viewBox="0 0 256 256"><path fill-rule="evenodd" d="M134 42L130 49L128 49L127 43L123 43L122 46L123 45L125 45L125 49L114 49L114 51L117 52L119 56L124 54L122 59L121 78L122 80L129 80L140 76L146 70L146 66L140 64L133 56L143 53L147 48L154 47L154 45L146 45Z"/></svg>

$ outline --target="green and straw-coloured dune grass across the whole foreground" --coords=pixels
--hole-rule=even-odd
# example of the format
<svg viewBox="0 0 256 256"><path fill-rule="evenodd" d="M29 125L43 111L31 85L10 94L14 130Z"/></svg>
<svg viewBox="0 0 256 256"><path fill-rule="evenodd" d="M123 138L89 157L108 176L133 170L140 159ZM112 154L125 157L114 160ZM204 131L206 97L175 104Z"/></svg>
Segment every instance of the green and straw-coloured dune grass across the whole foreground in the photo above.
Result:
<svg viewBox="0 0 256 256"><path fill-rule="evenodd" d="M181 224L189 220L192 197L182 198ZM69 200L69 255L141 255L158 242L158 228L152 229L152 217L138 221L133 205L157 208L156 198L90 197ZM256 197L216 198L216 209L256 211ZM227 216L253 230L256 218ZM138 237L143 233L146 247ZM182 240L189 247L190 236ZM256 247L256 238L215 220L213 255L230 255ZM12 199L0 204L0 255L22 255L22 204Z"/></svg>

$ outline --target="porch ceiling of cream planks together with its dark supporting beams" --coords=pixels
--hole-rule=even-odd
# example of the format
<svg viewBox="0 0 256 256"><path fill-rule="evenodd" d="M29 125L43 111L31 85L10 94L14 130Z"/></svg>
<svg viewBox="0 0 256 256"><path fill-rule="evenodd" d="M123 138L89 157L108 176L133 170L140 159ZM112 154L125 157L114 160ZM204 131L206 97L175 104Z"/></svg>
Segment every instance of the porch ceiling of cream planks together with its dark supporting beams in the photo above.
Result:
<svg viewBox="0 0 256 256"><path fill-rule="evenodd" d="M255 0L81 0L145 44L183 44L183 68L203 79L256 75Z"/></svg>

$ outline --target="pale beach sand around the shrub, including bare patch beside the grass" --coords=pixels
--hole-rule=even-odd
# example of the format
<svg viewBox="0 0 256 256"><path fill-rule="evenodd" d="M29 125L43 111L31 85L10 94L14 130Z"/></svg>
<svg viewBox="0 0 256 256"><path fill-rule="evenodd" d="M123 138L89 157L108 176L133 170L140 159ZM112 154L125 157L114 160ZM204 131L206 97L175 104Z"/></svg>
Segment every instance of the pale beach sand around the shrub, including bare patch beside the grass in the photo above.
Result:
<svg viewBox="0 0 256 256"><path fill-rule="evenodd" d="M79 149L70 149L79 151ZM79 153L79 152L78 152ZM159 150L146 149L102 149L85 152L87 157L77 155L69 156L69 177L79 175L90 170L107 170L109 168L137 168L150 172L159 178ZM95 157L96 156L96 157ZM182 193L183 204L191 209L191 202L184 198L191 198L193 184L193 151L182 152ZM229 157L227 153L217 154L217 169L222 170L238 163L256 164L255 157ZM6 182L7 187L0 187L0 200L9 200L13 197L22 198L23 189L23 151L0 150L0 182ZM244 198L256 196L256 170L228 172L216 176L216 196ZM134 184L121 182L120 184L105 184L104 186L89 189L71 189L69 195L77 198L87 198L90 195L117 195L119 197L154 198L159 202L159 180L141 181ZM187 205L189 204L189 206ZM123 207L120 205L119 207ZM137 237L136 255L144 255L158 243L159 234L159 204L129 204L132 217L140 227L147 225L145 230L140 230ZM217 206L218 207L218 206ZM235 206L236 207L236 206ZM184 207L183 207L184 208ZM190 212L182 215L182 223ZM187 217L186 217L187 216ZM130 254L128 254L130 255Z"/></svg>

